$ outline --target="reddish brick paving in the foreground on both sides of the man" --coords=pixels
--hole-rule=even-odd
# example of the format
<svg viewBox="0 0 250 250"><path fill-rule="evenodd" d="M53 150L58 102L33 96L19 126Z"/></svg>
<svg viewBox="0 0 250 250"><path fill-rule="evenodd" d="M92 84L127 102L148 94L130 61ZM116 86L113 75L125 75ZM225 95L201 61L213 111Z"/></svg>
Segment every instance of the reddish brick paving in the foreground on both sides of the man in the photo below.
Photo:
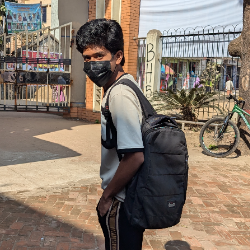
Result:
<svg viewBox="0 0 250 250"><path fill-rule="evenodd" d="M99 185L88 185L46 196L2 195L0 250L104 249L95 212L101 193ZM190 166L181 222L147 230L148 249L250 249L250 167Z"/></svg>

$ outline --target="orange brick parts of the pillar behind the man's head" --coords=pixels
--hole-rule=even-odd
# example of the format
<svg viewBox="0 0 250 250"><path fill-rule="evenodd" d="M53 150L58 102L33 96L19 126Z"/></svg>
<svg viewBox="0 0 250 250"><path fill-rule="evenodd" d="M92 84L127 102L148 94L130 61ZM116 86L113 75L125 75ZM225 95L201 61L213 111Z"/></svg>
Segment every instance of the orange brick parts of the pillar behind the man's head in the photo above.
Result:
<svg viewBox="0 0 250 250"><path fill-rule="evenodd" d="M139 32L140 0L122 0L121 27L124 35L124 71L136 78L137 73L137 40ZM89 0L89 20L96 18L96 0ZM105 0L105 18L111 18L111 0ZM87 77L86 108L72 107L65 117L86 119L91 122L101 120L100 113L93 112L94 83Z"/></svg>

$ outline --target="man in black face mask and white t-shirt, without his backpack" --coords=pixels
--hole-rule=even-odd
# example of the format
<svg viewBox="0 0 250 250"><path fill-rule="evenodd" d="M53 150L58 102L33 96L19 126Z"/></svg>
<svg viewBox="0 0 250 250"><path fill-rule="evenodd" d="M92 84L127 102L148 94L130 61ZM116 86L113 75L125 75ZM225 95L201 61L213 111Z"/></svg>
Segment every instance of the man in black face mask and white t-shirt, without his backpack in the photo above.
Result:
<svg viewBox="0 0 250 250"><path fill-rule="evenodd" d="M122 29L114 20L96 19L79 29L76 43L84 58L84 71L97 86L104 89L103 108L110 94L109 109L117 131L117 149L102 146L100 176L104 192L97 213L106 250L139 250L144 230L130 225L123 202L126 185L144 162L142 110L131 88L122 84L114 86L124 78L137 84L122 68L125 63ZM114 86L112 90L111 86ZM103 114L101 123L102 139L106 140ZM121 161L118 153L123 155Z"/></svg>

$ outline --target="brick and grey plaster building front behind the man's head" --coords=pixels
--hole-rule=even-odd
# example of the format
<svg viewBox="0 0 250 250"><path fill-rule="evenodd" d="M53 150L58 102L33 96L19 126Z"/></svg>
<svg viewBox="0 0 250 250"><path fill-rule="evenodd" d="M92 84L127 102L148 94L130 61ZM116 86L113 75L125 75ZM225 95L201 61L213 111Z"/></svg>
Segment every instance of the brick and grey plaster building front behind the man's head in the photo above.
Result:
<svg viewBox="0 0 250 250"><path fill-rule="evenodd" d="M136 79L139 33L140 0L19 0L23 4L40 3L43 7L43 26L52 29L72 23L71 55L71 106L65 117L99 122L102 89L83 72L83 59L76 50L77 30L88 20L114 19L120 23L124 34L124 70ZM46 15L45 15L46 14ZM63 36L63 34L62 34ZM59 38L59 33L55 34Z"/></svg>

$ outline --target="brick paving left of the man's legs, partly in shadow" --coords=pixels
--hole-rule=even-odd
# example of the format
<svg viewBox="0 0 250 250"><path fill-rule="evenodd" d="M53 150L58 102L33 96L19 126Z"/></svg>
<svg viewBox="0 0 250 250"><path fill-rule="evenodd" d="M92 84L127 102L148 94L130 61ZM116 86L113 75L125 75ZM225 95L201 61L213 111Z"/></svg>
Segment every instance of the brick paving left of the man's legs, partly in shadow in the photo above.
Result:
<svg viewBox="0 0 250 250"><path fill-rule="evenodd" d="M10 198L0 194L0 249L104 250L92 211L97 201L91 194L96 192L96 187L85 186L50 196Z"/></svg>

